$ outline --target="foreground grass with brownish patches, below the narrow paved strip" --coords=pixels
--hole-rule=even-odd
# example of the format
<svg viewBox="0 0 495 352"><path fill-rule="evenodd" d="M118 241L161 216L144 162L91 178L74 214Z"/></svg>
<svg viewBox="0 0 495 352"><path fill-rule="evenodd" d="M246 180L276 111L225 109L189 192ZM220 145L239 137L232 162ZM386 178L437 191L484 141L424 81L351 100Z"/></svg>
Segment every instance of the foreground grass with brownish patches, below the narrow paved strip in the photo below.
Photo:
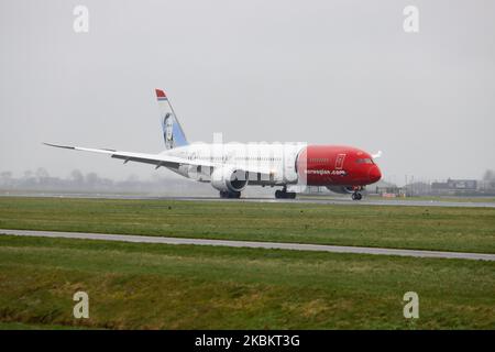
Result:
<svg viewBox="0 0 495 352"><path fill-rule="evenodd" d="M495 328L492 262L3 235L0 257L0 328Z"/></svg>

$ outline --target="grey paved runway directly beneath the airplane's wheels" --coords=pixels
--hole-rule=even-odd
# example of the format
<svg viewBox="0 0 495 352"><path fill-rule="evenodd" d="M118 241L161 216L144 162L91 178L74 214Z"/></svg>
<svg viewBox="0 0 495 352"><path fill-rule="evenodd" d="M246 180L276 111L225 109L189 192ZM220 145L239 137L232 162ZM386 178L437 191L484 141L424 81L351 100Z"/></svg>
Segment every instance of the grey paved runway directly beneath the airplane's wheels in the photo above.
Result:
<svg viewBox="0 0 495 352"><path fill-rule="evenodd" d="M495 208L495 201L450 201L450 200L405 200L405 199L370 199L352 200L338 196L298 196L296 199L275 199L273 197L248 197L241 199L221 199L220 197L185 197L185 196L140 196L119 194L2 194L2 197L48 197L48 198L89 198L89 199L150 199L150 200L189 200L189 201L233 201L233 202L290 202L345 206L409 206L409 207L464 207Z"/></svg>

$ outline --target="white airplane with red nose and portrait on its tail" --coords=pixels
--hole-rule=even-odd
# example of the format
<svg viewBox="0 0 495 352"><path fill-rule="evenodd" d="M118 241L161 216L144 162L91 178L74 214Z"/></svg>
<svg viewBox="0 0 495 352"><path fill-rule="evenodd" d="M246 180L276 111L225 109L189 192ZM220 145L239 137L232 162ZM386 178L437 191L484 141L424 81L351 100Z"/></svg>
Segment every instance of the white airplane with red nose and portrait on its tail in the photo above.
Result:
<svg viewBox="0 0 495 352"><path fill-rule="evenodd" d="M50 146L108 154L128 162L152 164L198 182L210 183L222 198L240 198L246 186L282 187L276 198L295 198L290 185L326 186L341 194L362 198L365 185L382 177L374 158L362 150L341 145L306 143L189 143L183 128L161 89L156 89L165 151L157 154L123 152L80 146Z"/></svg>

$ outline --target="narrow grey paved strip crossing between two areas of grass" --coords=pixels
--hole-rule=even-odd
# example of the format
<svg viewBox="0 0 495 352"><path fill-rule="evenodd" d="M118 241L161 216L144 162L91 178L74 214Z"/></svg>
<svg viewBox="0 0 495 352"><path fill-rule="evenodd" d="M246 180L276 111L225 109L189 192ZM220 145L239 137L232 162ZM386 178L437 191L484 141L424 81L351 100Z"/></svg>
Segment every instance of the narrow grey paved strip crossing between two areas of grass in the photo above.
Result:
<svg viewBox="0 0 495 352"><path fill-rule="evenodd" d="M147 235L131 235L131 234L102 234L102 233L84 233L84 232L55 232L55 231L3 230L3 229L0 229L0 234L81 239L81 240L103 240L103 241L120 241L134 243L218 245L230 248L276 249L276 250L315 251L315 252L331 252L331 253L495 261L495 254L395 250L383 248L305 244L305 243L205 240L205 239L183 239L183 238L147 237Z"/></svg>

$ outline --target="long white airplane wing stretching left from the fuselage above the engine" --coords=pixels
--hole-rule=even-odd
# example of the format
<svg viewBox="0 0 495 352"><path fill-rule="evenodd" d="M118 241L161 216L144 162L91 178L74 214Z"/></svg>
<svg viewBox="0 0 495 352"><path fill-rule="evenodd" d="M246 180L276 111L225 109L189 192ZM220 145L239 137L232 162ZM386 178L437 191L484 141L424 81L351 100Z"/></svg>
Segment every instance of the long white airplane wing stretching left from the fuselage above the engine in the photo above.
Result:
<svg viewBox="0 0 495 352"><path fill-rule="evenodd" d="M48 145L48 146L54 146L54 147L73 150L73 151L107 154L113 158L123 160L124 163L136 162L136 163L152 164L152 165L156 166L155 168L158 168L161 166L178 167L179 165L194 165L194 166L212 167L212 168L226 166L226 164L221 164L221 163L211 163L211 162L208 162L205 160L189 160L189 158L185 158L185 157L168 155L167 153L147 154L147 153L123 152L123 151L116 151L116 150L109 150L109 148L91 148L91 147L82 147L82 146L59 145L59 144L52 144L52 143L43 143L43 144ZM274 173L274 170L272 170L272 169L267 169L265 167L257 167L255 165L250 165L250 166L237 165L237 167L242 168L243 170L246 170L250 173L266 174L266 175L272 175Z"/></svg>

